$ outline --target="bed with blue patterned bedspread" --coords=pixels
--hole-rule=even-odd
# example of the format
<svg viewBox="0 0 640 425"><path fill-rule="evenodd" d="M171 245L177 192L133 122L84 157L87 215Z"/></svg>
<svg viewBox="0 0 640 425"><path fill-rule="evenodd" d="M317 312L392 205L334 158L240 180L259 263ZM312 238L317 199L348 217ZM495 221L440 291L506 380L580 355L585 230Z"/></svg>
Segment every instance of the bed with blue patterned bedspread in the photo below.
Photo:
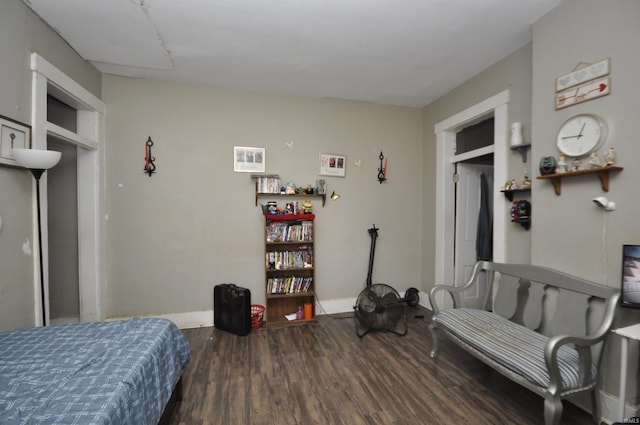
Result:
<svg viewBox="0 0 640 425"><path fill-rule="evenodd" d="M190 356L166 319L0 333L0 423L155 425Z"/></svg>

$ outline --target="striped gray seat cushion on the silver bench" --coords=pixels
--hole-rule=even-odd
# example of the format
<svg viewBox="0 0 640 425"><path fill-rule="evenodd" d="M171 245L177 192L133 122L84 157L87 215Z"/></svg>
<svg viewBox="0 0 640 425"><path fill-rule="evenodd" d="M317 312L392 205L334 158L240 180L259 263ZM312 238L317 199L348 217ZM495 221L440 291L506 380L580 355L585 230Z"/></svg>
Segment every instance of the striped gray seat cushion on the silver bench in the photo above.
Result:
<svg viewBox="0 0 640 425"><path fill-rule="evenodd" d="M437 326L532 384L543 388L549 386L549 372L544 361L546 336L483 310L452 308L439 312L433 320ZM558 351L558 365L563 389L579 388L577 351L562 346ZM597 369L592 365L591 379L596 375Z"/></svg>

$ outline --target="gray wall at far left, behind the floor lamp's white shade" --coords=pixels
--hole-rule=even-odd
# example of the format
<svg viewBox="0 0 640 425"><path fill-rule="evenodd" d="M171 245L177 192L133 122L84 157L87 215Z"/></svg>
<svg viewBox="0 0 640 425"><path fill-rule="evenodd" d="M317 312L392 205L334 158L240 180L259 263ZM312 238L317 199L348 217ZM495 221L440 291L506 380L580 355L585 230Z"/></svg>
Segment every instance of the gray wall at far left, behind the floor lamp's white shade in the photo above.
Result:
<svg viewBox="0 0 640 425"><path fill-rule="evenodd" d="M101 75L19 0L0 2L0 115L30 124L30 55L38 52L96 96ZM34 324L33 179L0 166L0 331Z"/></svg>

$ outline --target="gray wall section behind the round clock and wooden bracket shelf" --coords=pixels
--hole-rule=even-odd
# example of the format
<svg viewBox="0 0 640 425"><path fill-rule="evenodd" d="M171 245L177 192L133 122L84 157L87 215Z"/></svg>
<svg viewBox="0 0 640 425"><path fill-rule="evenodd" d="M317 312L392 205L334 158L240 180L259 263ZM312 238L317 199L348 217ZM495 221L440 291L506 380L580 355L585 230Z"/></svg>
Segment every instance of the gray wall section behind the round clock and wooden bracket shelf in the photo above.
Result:
<svg viewBox="0 0 640 425"><path fill-rule="evenodd" d="M640 243L640 202L636 197L640 177L639 40L640 2L635 0L567 1L533 27L533 157L558 154L555 134L567 118L596 113L609 126L601 152L614 146L617 165L624 170L611 175L609 193L602 191L593 175L563 179L561 196L554 194L549 182L534 180L534 220L540 230L532 232L531 260L614 287L620 286L622 245ZM611 61L611 94L556 111L556 77L571 72L580 62L604 58ZM591 199L601 195L616 201L618 209L605 213L596 207ZM619 311L618 325L639 321L639 311ZM615 396L619 338L612 336L610 343L602 387ZM637 345L632 347L628 399L637 404L638 351Z"/></svg>

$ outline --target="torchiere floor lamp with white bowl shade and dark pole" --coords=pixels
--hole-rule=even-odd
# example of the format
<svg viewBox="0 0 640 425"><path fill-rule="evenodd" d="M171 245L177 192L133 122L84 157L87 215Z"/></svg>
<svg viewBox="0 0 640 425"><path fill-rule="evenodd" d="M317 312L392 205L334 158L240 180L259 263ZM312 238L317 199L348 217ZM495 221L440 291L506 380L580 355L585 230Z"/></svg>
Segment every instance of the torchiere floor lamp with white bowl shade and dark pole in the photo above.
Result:
<svg viewBox="0 0 640 425"><path fill-rule="evenodd" d="M40 295L42 297L42 324L47 326L47 310L44 296L44 266L42 259L42 220L40 218L40 177L49 168L54 167L62 154L57 151L41 149L13 149L13 159L22 167L28 168L36 180L36 208L38 211L38 259L40 260Z"/></svg>

